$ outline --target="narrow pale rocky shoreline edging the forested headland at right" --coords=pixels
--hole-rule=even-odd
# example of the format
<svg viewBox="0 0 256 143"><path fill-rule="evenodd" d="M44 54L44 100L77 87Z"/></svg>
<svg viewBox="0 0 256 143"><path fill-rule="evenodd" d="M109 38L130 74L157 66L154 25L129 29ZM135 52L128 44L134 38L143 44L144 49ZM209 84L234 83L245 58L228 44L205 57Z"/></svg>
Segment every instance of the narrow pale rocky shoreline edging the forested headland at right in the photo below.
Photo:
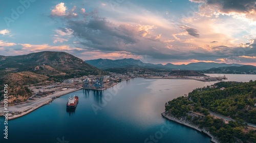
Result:
<svg viewBox="0 0 256 143"><path fill-rule="evenodd" d="M173 116L167 115L166 112L161 113L161 115L162 115L164 118L166 118L167 120L170 120L170 121L179 123L179 124L181 124L181 125L184 125L184 126L189 127L189 128L191 128L191 129L197 130L197 131L199 131L199 132L201 132L201 133L203 133L203 134L209 136L209 137L211 138L211 140L210 140L211 142L219 143L218 139L217 139L215 136L213 136L212 134L210 134L209 132L207 132L207 131L204 130L204 129L199 129L199 128L198 128L197 126L195 126L195 125L190 125L189 123L185 123L185 122L183 122L183 121L180 121L180 120L178 120L177 118L175 118L175 117L173 117Z"/></svg>

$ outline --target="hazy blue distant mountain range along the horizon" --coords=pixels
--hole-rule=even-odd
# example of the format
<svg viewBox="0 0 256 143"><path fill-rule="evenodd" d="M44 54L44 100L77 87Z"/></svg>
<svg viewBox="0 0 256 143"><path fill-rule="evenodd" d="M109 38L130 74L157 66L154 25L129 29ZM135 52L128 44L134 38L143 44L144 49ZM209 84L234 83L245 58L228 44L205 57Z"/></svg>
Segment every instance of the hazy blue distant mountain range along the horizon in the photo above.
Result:
<svg viewBox="0 0 256 143"><path fill-rule="evenodd" d="M95 60L86 60L85 62L101 68L116 68L116 67L127 67L127 66L140 66L143 68L156 68L156 69L183 69L183 70L205 70L210 68L218 67L229 67L229 66L243 66L242 64L226 64L226 63L215 63L215 62L197 62L189 64L175 65L172 63L163 64L152 64L152 63L143 63L141 60L135 59L120 59L120 60L110 60L110 59L95 59Z"/></svg>

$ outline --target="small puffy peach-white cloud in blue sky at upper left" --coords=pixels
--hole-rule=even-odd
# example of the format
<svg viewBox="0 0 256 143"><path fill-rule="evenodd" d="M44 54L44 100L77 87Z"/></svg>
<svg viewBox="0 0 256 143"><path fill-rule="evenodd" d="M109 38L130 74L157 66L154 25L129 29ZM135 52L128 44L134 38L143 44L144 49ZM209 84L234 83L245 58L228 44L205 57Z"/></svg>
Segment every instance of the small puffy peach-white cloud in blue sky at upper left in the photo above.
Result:
<svg viewBox="0 0 256 143"><path fill-rule="evenodd" d="M68 8L65 6L65 3L59 3L54 7L54 9L51 10L51 15L58 17L64 16L66 18L73 18L77 16L77 13L74 12L75 9L76 6L73 6L73 8L66 13Z"/></svg>

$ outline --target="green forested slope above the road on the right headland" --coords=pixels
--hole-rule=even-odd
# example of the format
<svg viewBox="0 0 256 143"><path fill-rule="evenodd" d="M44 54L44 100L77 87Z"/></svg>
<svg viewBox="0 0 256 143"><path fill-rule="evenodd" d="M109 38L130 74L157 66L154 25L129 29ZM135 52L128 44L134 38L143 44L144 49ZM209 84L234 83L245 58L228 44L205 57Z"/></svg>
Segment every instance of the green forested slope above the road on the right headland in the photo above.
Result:
<svg viewBox="0 0 256 143"><path fill-rule="evenodd" d="M212 112L256 124L256 81L219 82L195 89L188 97L197 103L196 108L205 107Z"/></svg>

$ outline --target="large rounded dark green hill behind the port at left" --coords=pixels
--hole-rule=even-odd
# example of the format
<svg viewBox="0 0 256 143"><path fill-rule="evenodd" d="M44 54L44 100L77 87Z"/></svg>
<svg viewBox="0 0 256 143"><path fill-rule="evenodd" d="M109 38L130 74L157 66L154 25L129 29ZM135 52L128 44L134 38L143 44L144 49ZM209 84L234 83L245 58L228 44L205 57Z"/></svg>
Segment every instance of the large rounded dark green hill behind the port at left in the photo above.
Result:
<svg viewBox="0 0 256 143"><path fill-rule="evenodd" d="M66 74L93 75L99 69L66 52L38 52L20 56L1 56L0 69L16 68L14 71L33 71L36 66L48 65ZM40 74L38 71L37 73ZM55 73L56 74L56 73Z"/></svg>

